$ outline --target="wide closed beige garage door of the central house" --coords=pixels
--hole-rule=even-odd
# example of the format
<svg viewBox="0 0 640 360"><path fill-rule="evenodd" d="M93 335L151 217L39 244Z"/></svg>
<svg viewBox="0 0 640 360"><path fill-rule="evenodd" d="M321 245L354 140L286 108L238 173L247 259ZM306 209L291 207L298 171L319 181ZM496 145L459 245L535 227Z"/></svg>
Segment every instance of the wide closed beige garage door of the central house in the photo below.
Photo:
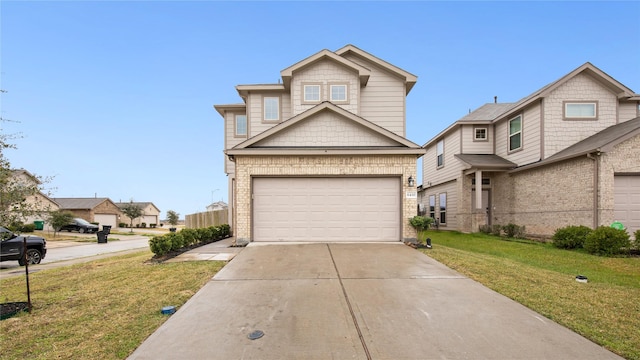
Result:
<svg viewBox="0 0 640 360"><path fill-rule="evenodd" d="M398 241L400 178L254 178L254 241Z"/></svg>

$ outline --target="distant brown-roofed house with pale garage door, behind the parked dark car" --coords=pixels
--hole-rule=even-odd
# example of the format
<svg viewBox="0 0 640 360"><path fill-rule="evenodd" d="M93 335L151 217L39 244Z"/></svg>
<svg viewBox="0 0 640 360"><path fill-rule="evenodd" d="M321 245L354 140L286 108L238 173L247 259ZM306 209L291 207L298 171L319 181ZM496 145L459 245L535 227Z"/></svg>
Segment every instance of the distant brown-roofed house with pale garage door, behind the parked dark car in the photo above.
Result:
<svg viewBox="0 0 640 360"><path fill-rule="evenodd" d="M99 225L118 226L122 213L109 198L54 198L60 210L72 212L76 217Z"/></svg>

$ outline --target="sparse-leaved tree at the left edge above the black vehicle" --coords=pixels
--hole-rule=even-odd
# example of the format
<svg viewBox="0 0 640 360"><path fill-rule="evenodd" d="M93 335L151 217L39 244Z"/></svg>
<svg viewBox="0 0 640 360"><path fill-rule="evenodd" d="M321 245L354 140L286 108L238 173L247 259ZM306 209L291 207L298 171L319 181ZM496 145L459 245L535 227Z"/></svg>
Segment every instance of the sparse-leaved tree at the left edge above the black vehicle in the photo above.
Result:
<svg viewBox="0 0 640 360"><path fill-rule="evenodd" d="M4 121L4 119L0 119ZM0 133L0 224L20 224L28 217L47 211L39 203L42 184L50 181L41 177L11 169L5 151L15 149L9 141L15 136Z"/></svg>

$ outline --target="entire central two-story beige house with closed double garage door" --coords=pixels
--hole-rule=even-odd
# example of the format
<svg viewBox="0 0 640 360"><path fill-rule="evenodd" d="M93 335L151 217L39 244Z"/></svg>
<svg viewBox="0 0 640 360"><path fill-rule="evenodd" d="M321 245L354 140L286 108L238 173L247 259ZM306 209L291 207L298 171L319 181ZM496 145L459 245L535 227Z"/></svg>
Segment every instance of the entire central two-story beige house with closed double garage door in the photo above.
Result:
<svg viewBox="0 0 640 360"><path fill-rule="evenodd" d="M215 106L236 240L415 238L424 149L405 138L405 102L416 76L353 45L280 76L238 85L242 103Z"/></svg>

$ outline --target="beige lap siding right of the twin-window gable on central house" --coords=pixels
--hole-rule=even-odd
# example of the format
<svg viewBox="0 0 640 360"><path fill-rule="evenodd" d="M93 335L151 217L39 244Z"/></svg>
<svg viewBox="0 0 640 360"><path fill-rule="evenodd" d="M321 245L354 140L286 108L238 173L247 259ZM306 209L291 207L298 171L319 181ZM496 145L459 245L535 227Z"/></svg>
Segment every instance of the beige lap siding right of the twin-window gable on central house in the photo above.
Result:
<svg viewBox="0 0 640 360"><path fill-rule="evenodd" d="M360 91L359 115L389 131L405 136L404 81L358 56L351 54L346 58L371 70L367 86Z"/></svg>

